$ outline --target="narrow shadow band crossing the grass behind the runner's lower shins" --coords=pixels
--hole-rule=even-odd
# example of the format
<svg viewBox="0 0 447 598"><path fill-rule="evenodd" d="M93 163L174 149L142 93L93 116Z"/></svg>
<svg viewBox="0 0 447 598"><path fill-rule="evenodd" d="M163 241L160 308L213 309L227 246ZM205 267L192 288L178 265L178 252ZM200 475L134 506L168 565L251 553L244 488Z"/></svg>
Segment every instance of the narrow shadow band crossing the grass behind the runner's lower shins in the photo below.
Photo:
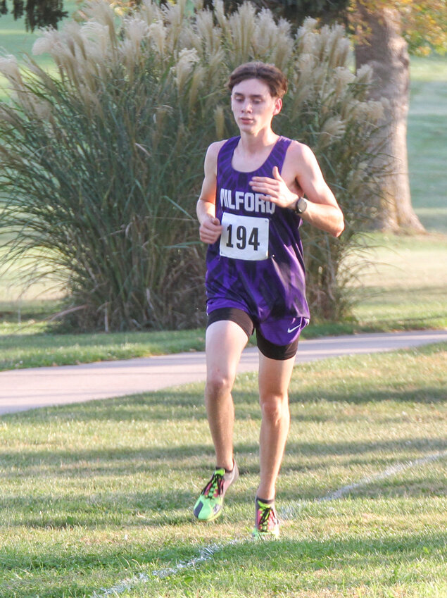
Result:
<svg viewBox="0 0 447 598"><path fill-rule="evenodd" d="M238 458L243 461L244 456L258 454L259 444L253 442L237 442L234 445ZM396 453L408 453L418 458L432 454L436 451L447 449L447 442L443 439L431 437L402 437L397 440L380 440L373 442L287 442L288 459L294 456L314 456L315 459L325 456L347 456L346 461L337 459L339 466L364 465L365 463L380 463L389 466L396 461ZM384 451L389 451L389 459L384 456ZM146 449L131 449L125 447L106 449L50 449L39 451L35 449L20 449L17 453L9 450L0 453L2 471L0 480L7 478L37 478L41 475L63 478L76 478L77 476L94 475L116 476L130 475L130 473L148 473L150 475L168 475L169 471L203 471L203 463L213 463L213 447L211 444L180 444L176 447L148 447ZM360 455L365 454L365 460ZM377 454L377 459L374 457ZM189 459L195 459L190 462ZM11 473L6 471L12 469ZM284 464L282 471L309 471L321 467L315 465L296 466ZM327 467L327 463L325 464ZM244 468L241 466L244 474ZM246 470L245 470L246 471ZM251 473L258 473L258 468L251 468ZM248 473L248 471L246 471ZM1 500L1 499L0 499Z"/></svg>

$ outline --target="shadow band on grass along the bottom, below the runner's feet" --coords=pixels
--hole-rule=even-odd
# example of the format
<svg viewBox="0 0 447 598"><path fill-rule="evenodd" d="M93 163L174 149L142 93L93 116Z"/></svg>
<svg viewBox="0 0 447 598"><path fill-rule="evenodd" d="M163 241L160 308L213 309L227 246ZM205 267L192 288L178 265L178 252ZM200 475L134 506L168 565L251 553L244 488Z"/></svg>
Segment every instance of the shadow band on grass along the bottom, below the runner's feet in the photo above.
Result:
<svg viewBox="0 0 447 598"><path fill-rule="evenodd" d="M209 544L191 545L187 544L187 540L178 542L176 547L156 548L132 544L101 546L96 551L89 547L71 547L63 552L40 549L38 555L28 552L27 549L15 549L7 553L1 550L0 563L9 573L8 577L11 580L6 580L5 589L13 589L16 582L14 573L20 571L20 596L23 597L35 595L37 580L34 575L38 575L40 598L60 598L62 587L67 590L64 595L92 596L103 587L104 575L108 578L113 576L113 583L119 584L122 580L132 580L132 575L141 572L144 572L143 583L148 586L146 592L156 588L157 594L160 592L158 595L168 596L172 584L180 590L179 585L185 580L188 595L203 595L200 593L203 591L203 584L207 583L207 580L209 582L210 575L215 575L217 570L224 575L225 571L229 573L227 584L232 590L241 592L239 595L255 595L253 591L245 594L244 590L248 590L248 586L253 583L258 584L252 575L253 572L260 571L265 573L267 587L273 583L267 581L271 575L281 572L277 583L284 585L287 595L292 595L289 593L292 590L288 587L289 584L293 584L293 591L296 592L303 589L302 584L310 583L310 580L313 589L326 591L328 580L318 575L322 570L328 574L334 570L341 571L341 576L346 580L346 590L350 585L357 587L360 580L366 586L372 586L379 581L385 590L398 581L396 575L402 563L405 563L405 575L412 566L420 569L421 560L429 561L432 566L430 573L436 579L436 573L440 573L433 567L441 567L441 551L445 546L446 535L427 530L423 535L403 533L393 537L362 537L360 534L350 534L343 539L335 537L328 540L300 541L282 538L275 542L229 542L232 542L232 538L223 537L220 548L213 542L213 554L196 564L193 564L194 559L197 559L201 550L206 549ZM191 564L177 568L178 563ZM164 578L154 575L154 569L163 571L169 567L173 568L170 575ZM89 575L82 575L85 571L88 571ZM378 571L380 580L377 579ZM23 573L28 573L29 578ZM136 585L138 578L133 579ZM225 582L218 579L222 591L225 591ZM95 587L95 581L100 587ZM34 590L34 593L27 593L28 587L30 592ZM76 594L70 591L73 588L76 588Z"/></svg>

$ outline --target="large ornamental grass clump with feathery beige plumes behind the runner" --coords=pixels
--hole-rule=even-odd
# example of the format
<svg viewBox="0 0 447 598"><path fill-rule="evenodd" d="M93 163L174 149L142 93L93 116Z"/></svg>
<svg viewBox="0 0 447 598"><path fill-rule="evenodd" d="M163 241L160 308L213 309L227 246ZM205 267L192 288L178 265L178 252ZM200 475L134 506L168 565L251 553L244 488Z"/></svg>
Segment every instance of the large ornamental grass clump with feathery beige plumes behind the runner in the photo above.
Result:
<svg viewBox="0 0 447 598"><path fill-rule="evenodd" d="M197 3L200 4L200 3ZM51 75L31 58L0 59L13 89L0 105L0 228L10 258L44 256L82 328L180 328L203 322L203 254L195 218L203 156L236 132L225 77L239 63L275 63L290 82L275 129L312 147L346 214L334 240L303 227L308 298L317 316L346 315L344 258L372 216L381 106L369 73L351 73L341 27L296 34L244 4L187 15L186 2L145 0L120 17L92 1L46 30Z"/></svg>

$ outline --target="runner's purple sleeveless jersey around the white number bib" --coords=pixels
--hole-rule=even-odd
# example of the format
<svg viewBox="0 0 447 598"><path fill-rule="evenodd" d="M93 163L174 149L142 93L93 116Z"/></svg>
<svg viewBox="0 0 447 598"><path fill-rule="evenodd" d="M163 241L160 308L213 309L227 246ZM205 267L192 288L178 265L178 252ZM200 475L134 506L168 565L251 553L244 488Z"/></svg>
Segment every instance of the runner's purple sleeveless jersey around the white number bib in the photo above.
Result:
<svg viewBox="0 0 447 598"><path fill-rule="evenodd" d="M272 177L274 166L281 173L291 139L279 137L265 163L251 173L232 167L239 139L228 139L218 154L215 210L225 234L208 246L208 313L233 306L248 311L256 323L284 316L307 320L301 218L260 199L248 185L253 176Z"/></svg>

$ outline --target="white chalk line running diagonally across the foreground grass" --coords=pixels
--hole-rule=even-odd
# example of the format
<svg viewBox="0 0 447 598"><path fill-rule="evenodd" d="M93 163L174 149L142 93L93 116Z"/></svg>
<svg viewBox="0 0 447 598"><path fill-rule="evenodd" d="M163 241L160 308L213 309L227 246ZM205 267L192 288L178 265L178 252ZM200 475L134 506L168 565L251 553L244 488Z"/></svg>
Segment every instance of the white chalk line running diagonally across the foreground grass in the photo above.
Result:
<svg viewBox="0 0 447 598"><path fill-rule="evenodd" d="M421 459L415 459L414 461L405 461L403 463L396 463L396 465L387 467L384 471L377 473L376 475L370 475L367 478L362 478L358 482L353 484L348 484L346 486L342 486L339 490L335 490L334 492L330 492L326 494L324 497L319 497L312 501L299 501L296 503L296 506L289 506L283 511L281 511L280 516L283 521L288 521L291 519L296 518L299 511L303 509L303 506L306 504L310 504L313 502L327 502L332 500L340 499L346 494L350 494L351 492L358 490L358 488L363 488L365 486L369 486L375 482L379 482L380 480L385 480L386 478L391 478L392 475L396 473L401 473L401 471L405 471L410 468L414 467L423 467L426 466L428 463L432 463L432 461L437 461L438 459L443 459L443 457L447 457L447 451L441 451L439 453L434 453L431 455L427 455L422 457ZM229 546L234 546L235 544L239 544L240 542L246 542L246 539L237 539L229 540L229 542L223 542L221 544L208 544L200 549L199 556L195 556L188 561L179 561L173 567L165 567L162 569L156 569L152 571L151 575L148 573L138 573L138 575L134 575L132 578L124 579L118 582L116 585L113 585L109 588L101 588L99 592L94 592L92 594L92 598L106 598L108 596L117 596L122 594L123 592L128 592L132 590L133 587L148 583L151 578L159 578L163 579L166 577L170 577L170 575L176 575L183 571L184 569L195 568L197 565L200 565L203 562L210 561L213 559L213 556L216 552L220 552L220 550L227 548Z"/></svg>

